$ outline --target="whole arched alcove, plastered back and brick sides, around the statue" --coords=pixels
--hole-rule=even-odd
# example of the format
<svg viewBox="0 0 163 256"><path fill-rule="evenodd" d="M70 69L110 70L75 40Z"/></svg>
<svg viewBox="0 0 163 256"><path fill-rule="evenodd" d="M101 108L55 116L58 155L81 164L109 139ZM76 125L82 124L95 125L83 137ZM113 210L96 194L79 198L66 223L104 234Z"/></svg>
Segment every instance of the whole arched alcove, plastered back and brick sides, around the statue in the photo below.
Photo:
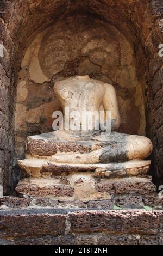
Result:
<svg viewBox="0 0 163 256"><path fill-rule="evenodd" d="M7 11L1 14L0 21L4 52L0 68L1 111L5 121L1 125L0 166L5 193L20 177L20 170L14 168L12 171L11 166L13 161L16 165L16 159L24 154L24 138L30 133L49 131L51 127L51 118L42 112L38 114L36 108L42 105L47 109L59 107L57 99L54 100L52 86L56 79L76 73L87 73L114 84L120 103L121 132L144 135L146 130L154 144L153 173L161 184L162 105L154 101L162 93L162 59L158 56L162 30L159 3L149 0L4 1ZM84 39L86 31L89 31L89 36ZM59 36L63 42L59 41ZM68 47L71 47L70 51ZM58 51L65 54L65 58L58 55ZM17 87L24 92L24 98L18 101ZM35 98L32 92L39 97ZM37 101L33 102L35 99ZM36 122L30 120L34 109L33 116L39 119ZM26 129L17 130L14 119L20 114L22 126ZM30 124L41 124L43 128L35 125L32 130L33 125ZM17 126L21 127L21 124ZM15 147L16 155L13 154Z"/></svg>

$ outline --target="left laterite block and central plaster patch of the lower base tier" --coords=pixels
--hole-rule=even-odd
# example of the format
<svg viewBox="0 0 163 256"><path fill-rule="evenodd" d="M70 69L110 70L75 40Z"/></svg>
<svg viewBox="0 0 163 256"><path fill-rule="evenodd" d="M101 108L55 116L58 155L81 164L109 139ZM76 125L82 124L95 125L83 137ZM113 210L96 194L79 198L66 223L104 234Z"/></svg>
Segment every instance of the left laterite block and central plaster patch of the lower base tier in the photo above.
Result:
<svg viewBox="0 0 163 256"><path fill-rule="evenodd" d="M101 193L95 189L95 180L91 172L72 173L67 176L67 184L63 184L59 176L25 178L18 182L15 190L21 197L53 196L53 199L61 202L110 199L109 193Z"/></svg>

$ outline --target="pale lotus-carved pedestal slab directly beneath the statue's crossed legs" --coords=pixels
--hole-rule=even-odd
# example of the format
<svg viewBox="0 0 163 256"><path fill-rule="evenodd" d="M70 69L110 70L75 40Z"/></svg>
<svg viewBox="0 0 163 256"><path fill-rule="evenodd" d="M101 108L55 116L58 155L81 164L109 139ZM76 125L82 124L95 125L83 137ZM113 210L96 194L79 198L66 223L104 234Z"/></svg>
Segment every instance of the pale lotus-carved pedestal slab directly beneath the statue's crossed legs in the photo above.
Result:
<svg viewBox="0 0 163 256"><path fill-rule="evenodd" d="M132 160L107 164L62 164L48 158L34 157L27 157L25 160L18 161L18 165L22 168L24 174L34 178L74 172L92 172L97 177L105 178L139 176L147 174L150 164L151 161L149 160Z"/></svg>

